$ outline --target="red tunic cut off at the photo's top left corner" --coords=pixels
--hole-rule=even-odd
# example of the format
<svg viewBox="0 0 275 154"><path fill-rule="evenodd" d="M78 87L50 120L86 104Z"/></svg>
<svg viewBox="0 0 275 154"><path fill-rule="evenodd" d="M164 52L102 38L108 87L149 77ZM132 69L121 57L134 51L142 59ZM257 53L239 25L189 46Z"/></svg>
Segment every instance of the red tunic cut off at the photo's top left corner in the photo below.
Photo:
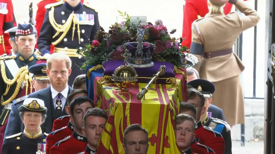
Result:
<svg viewBox="0 0 275 154"><path fill-rule="evenodd" d="M11 0L0 0L0 55L11 53L9 34L4 32L16 25Z"/></svg>

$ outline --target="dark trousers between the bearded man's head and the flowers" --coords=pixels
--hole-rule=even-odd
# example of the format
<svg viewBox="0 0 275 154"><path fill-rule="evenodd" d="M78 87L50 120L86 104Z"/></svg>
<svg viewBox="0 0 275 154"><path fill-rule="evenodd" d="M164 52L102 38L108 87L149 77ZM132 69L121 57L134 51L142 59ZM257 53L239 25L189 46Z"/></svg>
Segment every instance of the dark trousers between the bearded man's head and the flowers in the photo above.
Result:
<svg viewBox="0 0 275 154"><path fill-rule="evenodd" d="M72 60L72 72L68 79L68 85L72 86L72 83L74 82L74 79L80 75L85 74L85 70L81 71L79 67L83 65L83 63L86 61L86 58L82 57L79 59L78 57L70 57Z"/></svg>

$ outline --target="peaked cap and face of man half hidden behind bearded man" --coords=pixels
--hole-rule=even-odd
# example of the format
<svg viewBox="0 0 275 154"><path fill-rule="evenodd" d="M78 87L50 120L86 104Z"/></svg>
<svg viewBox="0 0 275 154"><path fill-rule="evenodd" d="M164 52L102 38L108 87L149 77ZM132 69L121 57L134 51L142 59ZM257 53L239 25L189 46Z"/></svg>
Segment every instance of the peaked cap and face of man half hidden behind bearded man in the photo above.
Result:
<svg viewBox="0 0 275 154"><path fill-rule="evenodd" d="M36 64L29 67L29 72L33 74L32 87L35 89L35 91L44 89L51 85L49 76L46 73L46 68L46 63Z"/></svg>

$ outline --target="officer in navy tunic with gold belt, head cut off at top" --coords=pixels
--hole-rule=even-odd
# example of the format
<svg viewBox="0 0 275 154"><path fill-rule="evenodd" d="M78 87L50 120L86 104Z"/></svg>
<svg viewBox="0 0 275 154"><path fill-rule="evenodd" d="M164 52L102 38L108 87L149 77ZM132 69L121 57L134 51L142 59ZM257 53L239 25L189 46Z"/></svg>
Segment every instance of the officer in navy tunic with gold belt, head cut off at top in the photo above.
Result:
<svg viewBox="0 0 275 154"><path fill-rule="evenodd" d="M99 28L97 11L84 1L66 0L46 5L44 22L38 38L38 49L42 55L50 54L50 44L54 52L64 52L72 60L72 74L68 85L72 85L77 75L85 74L77 65L85 58L76 54L76 48L83 48L93 40Z"/></svg>

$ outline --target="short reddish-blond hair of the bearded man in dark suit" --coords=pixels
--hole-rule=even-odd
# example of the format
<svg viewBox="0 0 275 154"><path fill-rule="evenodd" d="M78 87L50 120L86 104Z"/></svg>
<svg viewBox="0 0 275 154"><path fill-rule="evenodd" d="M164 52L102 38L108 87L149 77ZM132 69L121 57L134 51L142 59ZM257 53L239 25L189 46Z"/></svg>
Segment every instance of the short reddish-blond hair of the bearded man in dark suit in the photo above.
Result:
<svg viewBox="0 0 275 154"><path fill-rule="evenodd" d="M47 59L47 68L52 68L52 62L53 61L65 61L67 69L70 69L72 67L72 61L69 56L67 56L64 53L53 53L49 56Z"/></svg>

